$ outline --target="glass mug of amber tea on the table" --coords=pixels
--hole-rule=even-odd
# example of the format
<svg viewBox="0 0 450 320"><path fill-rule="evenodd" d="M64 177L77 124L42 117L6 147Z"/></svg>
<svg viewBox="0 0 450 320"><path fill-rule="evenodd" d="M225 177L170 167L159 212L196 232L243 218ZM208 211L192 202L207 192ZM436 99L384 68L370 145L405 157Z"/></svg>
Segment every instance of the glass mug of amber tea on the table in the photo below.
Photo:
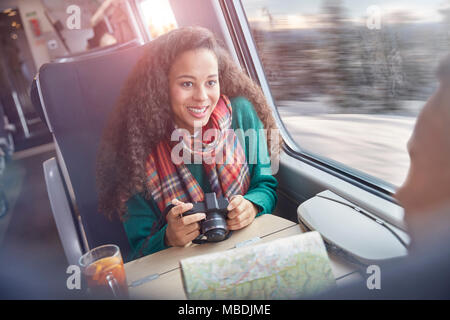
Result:
<svg viewBox="0 0 450 320"><path fill-rule="evenodd" d="M107 244L92 249L81 256L79 263L95 298L128 298L128 284L118 246Z"/></svg>

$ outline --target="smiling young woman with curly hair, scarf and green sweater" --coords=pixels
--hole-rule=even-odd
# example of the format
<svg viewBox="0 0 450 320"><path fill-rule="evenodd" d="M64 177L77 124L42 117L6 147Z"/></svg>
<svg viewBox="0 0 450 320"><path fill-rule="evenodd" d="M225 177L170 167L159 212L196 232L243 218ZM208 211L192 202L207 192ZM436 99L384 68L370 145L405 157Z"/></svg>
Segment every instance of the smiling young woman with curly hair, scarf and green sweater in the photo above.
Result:
<svg viewBox="0 0 450 320"><path fill-rule="evenodd" d="M214 35L176 29L148 44L107 124L99 210L120 216L133 258L195 239L205 214L181 214L205 193L227 197L228 228L244 228L275 208L280 141L261 89Z"/></svg>

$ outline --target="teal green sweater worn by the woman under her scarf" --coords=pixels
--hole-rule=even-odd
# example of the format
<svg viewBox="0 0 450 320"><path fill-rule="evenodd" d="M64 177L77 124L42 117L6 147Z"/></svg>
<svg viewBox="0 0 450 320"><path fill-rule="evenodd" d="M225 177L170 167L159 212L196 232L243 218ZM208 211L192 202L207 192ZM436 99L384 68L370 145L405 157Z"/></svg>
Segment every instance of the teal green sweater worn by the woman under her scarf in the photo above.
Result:
<svg viewBox="0 0 450 320"><path fill-rule="evenodd" d="M245 156L250 172L250 187L244 198L254 203L258 209L258 215L271 213L275 209L277 202L276 188L278 182L271 174L270 158L267 152L267 142L263 131L262 122L253 108L250 101L243 97L231 99L233 107L232 127L235 130L238 139L245 150ZM243 134L239 135L236 129L242 129ZM249 130L248 129L255 129ZM243 139L245 138L245 143ZM250 140L254 140L250 144ZM188 169L194 178L200 184L203 192L211 192L211 186L208 177L201 164L187 164ZM151 227L161 211L153 199L145 200L141 195L135 195L127 202L127 214L125 216L124 227L130 242L132 256L131 259L138 258L141 247L145 239L150 234ZM156 232L148 241L146 247L142 250L143 255L151 254L167 246L164 242L164 235L167 224Z"/></svg>

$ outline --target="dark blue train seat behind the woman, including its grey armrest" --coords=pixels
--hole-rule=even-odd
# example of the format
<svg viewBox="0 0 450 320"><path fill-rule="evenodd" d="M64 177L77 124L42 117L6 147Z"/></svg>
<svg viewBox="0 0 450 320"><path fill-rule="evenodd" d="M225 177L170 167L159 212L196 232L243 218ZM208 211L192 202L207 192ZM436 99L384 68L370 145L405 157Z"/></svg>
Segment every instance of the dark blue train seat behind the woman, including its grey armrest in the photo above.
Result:
<svg viewBox="0 0 450 320"><path fill-rule="evenodd" d="M44 163L47 191L70 264L106 243L119 245L124 260L128 257L121 221L97 211L95 163L108 114L144 47L48 63L35 78L33 101L40 103L57 154Z"/></svg>

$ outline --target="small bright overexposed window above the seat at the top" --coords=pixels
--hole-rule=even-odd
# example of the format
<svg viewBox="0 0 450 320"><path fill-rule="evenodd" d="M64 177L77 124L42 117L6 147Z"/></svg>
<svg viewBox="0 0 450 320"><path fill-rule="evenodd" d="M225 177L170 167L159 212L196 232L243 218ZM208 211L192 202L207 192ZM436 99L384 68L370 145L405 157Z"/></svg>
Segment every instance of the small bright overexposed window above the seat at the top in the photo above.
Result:
<svg viewBox="0 0 450 320"><path fill-rule="evenodd" d="M136 0L149 40L177 28L169 0Z"/></svg>

